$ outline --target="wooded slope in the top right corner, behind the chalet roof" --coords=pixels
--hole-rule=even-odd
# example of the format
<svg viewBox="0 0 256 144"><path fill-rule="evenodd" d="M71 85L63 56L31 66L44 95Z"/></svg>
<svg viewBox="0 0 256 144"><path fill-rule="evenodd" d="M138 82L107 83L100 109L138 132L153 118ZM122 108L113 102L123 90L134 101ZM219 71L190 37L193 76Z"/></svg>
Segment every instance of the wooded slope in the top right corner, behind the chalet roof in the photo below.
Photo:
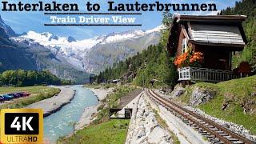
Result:
<svg viewBox="0 0 256 144"><path fill-rule="evenodd" d="M250 62L253 65L254 72L256 71L256 1L242 0L236 2L235 6L222 10L222 15L240 14L246 15L246 22L243 23L243 28L246 32L248 44L241 54L237 54L233 58L233 66L238 66L242 61Z"/></svg>

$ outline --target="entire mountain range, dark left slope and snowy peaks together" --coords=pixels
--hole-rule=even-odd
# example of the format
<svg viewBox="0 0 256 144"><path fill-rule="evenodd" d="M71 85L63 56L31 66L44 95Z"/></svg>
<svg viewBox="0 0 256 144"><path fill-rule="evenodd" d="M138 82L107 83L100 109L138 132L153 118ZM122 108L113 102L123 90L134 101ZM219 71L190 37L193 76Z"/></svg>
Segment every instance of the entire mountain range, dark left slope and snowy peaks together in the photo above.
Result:
<svg viewBox="0 0 256 144"><path fill-rule="evenodd" d="M158 44L161 28L77 40L32 30L16 34L0 16L0 71L49 70L59 78L87 82L90 74L98 74L114 62Z"/></svg>

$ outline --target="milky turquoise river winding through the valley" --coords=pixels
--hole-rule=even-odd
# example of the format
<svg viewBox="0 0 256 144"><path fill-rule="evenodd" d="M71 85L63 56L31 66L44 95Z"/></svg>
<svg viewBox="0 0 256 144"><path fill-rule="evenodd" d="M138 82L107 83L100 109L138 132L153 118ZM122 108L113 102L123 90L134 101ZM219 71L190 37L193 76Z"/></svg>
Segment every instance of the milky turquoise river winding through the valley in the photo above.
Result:
<svg viewBox="0 0 256 144"><path fill-rule="evenodd" d="M44 118L44 138L56 142L59 137L73 133L72 123L78 122L86 107L98 104L98 98L89 89L72 86L74 99L61 110Z"/></svg>

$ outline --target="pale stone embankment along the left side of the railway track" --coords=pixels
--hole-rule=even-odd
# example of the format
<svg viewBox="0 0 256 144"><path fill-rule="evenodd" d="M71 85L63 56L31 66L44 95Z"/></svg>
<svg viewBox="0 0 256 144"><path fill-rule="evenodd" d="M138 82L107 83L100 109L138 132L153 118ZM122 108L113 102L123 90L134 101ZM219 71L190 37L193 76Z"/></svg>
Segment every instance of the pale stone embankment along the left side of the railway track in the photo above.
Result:
<svg viewBox="0 0 256 144"><path fill-rule="evenodd" d="M146 104L144 97L139 98L137 108L136 117L130 119L126 143L170 143L169 132L159 125L154 111Z"/></svg>

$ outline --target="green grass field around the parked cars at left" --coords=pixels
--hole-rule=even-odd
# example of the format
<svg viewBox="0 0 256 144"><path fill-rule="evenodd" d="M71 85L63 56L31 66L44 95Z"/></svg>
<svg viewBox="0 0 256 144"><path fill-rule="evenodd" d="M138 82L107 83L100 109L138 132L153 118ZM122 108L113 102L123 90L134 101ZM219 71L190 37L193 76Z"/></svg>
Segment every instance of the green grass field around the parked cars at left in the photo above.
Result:
<svg viewBox="0 0 256 144"><path fill-rule="evenodd" d="M0 105L1 109L14 109L14 108L22 108L24 106L30 105L34 102L41 101L46 98L50 98L55 94L60 92L57 88L47 87L47 86L28 86L28 87L1 87L0 94L14 93L18 91L26 91L31 95L26 98L15 99L15 101L11 101L10 103L5 103Z"/></svg>

